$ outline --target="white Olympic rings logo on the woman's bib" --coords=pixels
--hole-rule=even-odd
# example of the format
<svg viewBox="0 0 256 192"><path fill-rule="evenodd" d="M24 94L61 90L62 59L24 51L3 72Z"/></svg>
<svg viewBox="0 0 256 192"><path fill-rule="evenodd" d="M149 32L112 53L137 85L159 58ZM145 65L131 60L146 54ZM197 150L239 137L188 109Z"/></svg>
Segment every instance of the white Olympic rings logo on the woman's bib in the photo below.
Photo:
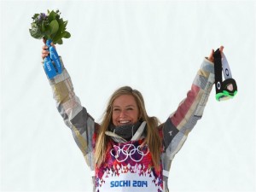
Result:
<svg viewBox="0 0 256 192"><path fill-rule="evenodd" d="M146 156L149 152L149 148L145 146L143 149L140 146L134 146L133 144L125 144L123 147L113 145L113 148L110 150L110 154L120 163L130 157L131 160L139 162L143 160L143 157Z"/></svg>

